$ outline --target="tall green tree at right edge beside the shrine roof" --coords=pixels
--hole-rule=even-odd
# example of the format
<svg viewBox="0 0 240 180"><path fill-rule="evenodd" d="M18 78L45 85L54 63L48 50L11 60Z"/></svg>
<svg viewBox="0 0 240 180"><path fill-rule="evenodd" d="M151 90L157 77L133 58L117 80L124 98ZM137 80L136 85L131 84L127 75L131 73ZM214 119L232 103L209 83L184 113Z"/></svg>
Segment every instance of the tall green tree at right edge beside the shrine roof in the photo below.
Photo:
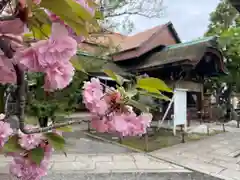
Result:
<svg viewBox="0 0 240 180"><path fill-rule="evenodd" d="M224 99L230 108L231 92L240 91L240 15L227 0L221 0L217 8L210 14L210 24L206 36L218 36L219 46L224 55L224 62L229 75L211 79L211 86L217 90L226 83ZM217 92L221 93L221 92Z"/></svg>

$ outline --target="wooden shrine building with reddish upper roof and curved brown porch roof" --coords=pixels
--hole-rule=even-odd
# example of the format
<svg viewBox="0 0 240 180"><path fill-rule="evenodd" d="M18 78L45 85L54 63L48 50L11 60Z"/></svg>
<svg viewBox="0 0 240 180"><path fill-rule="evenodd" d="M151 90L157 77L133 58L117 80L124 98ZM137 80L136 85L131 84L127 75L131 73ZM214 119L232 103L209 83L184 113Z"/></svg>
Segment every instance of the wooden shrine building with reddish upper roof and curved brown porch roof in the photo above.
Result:
<svg viewBox="0 0 240 180"><path fill-rule="evenodd" d="M164 80L172 88L187 89L187 104L192 114L204 111L204 80L226 74L216 37L182 43L171 22L134 36L117 36L118 43L114 43L118 44L118 50L109 54L111 62L105 68L124 75L146 73ZM84 43L89 46L89 42Z"/></svg>

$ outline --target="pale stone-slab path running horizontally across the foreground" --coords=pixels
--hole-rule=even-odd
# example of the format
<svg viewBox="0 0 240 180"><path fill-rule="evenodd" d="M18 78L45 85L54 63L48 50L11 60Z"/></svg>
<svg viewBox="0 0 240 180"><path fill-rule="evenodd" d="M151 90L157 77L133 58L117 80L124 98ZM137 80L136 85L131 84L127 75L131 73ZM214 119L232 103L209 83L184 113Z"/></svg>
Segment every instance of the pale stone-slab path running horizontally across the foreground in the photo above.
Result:
<svg viewBox="0 0 240 180"><path fill-rule="evenodd" d="M8 172L11 158L0 157L0 173ZM190 172L141 153L54 154L49 166L54 173L129 173Z"/></svg>

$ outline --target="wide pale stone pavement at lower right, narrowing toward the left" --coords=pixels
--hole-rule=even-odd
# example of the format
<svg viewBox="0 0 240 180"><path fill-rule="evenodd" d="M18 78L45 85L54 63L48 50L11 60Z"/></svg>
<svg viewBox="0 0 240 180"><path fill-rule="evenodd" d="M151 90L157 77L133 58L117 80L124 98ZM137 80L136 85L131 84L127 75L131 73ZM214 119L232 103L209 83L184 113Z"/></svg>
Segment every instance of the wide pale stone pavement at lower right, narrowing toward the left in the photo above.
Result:
<svg viewBox="0 0 240 180"><path fill-rule="evenodd" d="M222 179L240 179L240 133L237 132L175 145L150 155Z"/></svg>

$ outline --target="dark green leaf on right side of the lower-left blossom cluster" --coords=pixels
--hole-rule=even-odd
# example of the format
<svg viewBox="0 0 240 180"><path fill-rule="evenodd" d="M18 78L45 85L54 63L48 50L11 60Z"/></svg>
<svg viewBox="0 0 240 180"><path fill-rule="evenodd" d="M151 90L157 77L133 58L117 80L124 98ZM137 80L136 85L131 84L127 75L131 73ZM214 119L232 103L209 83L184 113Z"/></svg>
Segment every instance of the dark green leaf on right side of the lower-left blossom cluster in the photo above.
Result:
<svg viewBox="0 0 240 180"><path fill-rule="evenodd" d="M62 136L53 132L46 133L45 136L47 137L49 144L51 144L55 150L64 150L66 142Z"/></svg>

